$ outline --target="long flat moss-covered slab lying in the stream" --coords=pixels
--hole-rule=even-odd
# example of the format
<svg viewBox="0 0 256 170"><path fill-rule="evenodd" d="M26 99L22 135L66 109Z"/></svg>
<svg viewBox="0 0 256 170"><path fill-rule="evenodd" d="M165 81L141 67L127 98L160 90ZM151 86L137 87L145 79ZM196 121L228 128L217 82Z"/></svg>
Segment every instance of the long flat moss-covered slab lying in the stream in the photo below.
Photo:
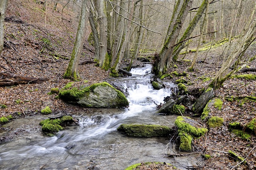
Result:
<svg viewBox="0 0 256 170"><path fill-rule="evenodd" d="M167 126L149 124L121 124L117 130L132 137L168 136L172 132Z"/></svg>

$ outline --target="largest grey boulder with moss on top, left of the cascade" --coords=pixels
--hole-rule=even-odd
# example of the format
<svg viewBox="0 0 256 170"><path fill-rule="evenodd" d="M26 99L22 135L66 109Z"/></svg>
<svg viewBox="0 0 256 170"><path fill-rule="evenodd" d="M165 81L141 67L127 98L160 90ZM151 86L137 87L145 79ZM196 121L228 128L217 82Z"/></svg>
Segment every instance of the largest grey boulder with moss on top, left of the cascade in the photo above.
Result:
<svg viewBox="0 0 256 170"><path fill-rule="evenodd" d="M60 90L59 97L68 103L83 107L116 108L129 105L124 94L107 82L79 89L67 84Z"/></svg>

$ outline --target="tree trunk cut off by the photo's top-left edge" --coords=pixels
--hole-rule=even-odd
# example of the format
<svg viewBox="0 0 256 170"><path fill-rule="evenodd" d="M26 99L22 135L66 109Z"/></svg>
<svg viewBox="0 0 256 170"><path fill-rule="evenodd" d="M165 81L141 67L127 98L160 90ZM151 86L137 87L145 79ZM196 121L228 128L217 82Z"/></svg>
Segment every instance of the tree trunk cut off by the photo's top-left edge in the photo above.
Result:
<svg viewBox="0 0 256 170"><path fill-rule="evenodd" d="M7 8L8 0L0 2L0 54L4 47L4 15Z"/></svg>

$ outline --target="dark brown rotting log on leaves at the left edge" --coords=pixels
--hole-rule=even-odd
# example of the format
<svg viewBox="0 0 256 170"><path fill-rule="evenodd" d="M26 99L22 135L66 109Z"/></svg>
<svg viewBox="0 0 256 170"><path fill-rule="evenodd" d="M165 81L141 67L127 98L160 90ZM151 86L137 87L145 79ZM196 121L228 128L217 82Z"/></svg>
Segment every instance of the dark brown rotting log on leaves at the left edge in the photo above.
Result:
<svg viewBox="0 0 256 170"><path fill-rule="evenodd" d="M48 78L34 78L18 74L0 72L0 86L12 86L18 84L35 84L49 80Z"/></svg>

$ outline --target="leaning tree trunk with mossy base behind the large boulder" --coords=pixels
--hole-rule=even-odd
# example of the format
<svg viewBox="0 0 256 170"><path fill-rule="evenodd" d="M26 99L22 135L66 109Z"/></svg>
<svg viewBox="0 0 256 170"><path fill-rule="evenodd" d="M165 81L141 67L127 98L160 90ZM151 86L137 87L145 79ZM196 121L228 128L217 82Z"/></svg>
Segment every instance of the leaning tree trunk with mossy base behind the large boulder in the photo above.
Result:
<svg viewBox="0 0 256 170"><path fill-rule="evenodd" d="M80 79L78 73L78 64L82 52L83 40L86 32L87 19L89 14L87 3L89 3L87 2L87 0L83 0L82 2L81 16L78 25L78 30L76 33L76 40L71 54L70 62L68 64L68 68L64 74L64 78L74 78L74 80Z"/></svg>

